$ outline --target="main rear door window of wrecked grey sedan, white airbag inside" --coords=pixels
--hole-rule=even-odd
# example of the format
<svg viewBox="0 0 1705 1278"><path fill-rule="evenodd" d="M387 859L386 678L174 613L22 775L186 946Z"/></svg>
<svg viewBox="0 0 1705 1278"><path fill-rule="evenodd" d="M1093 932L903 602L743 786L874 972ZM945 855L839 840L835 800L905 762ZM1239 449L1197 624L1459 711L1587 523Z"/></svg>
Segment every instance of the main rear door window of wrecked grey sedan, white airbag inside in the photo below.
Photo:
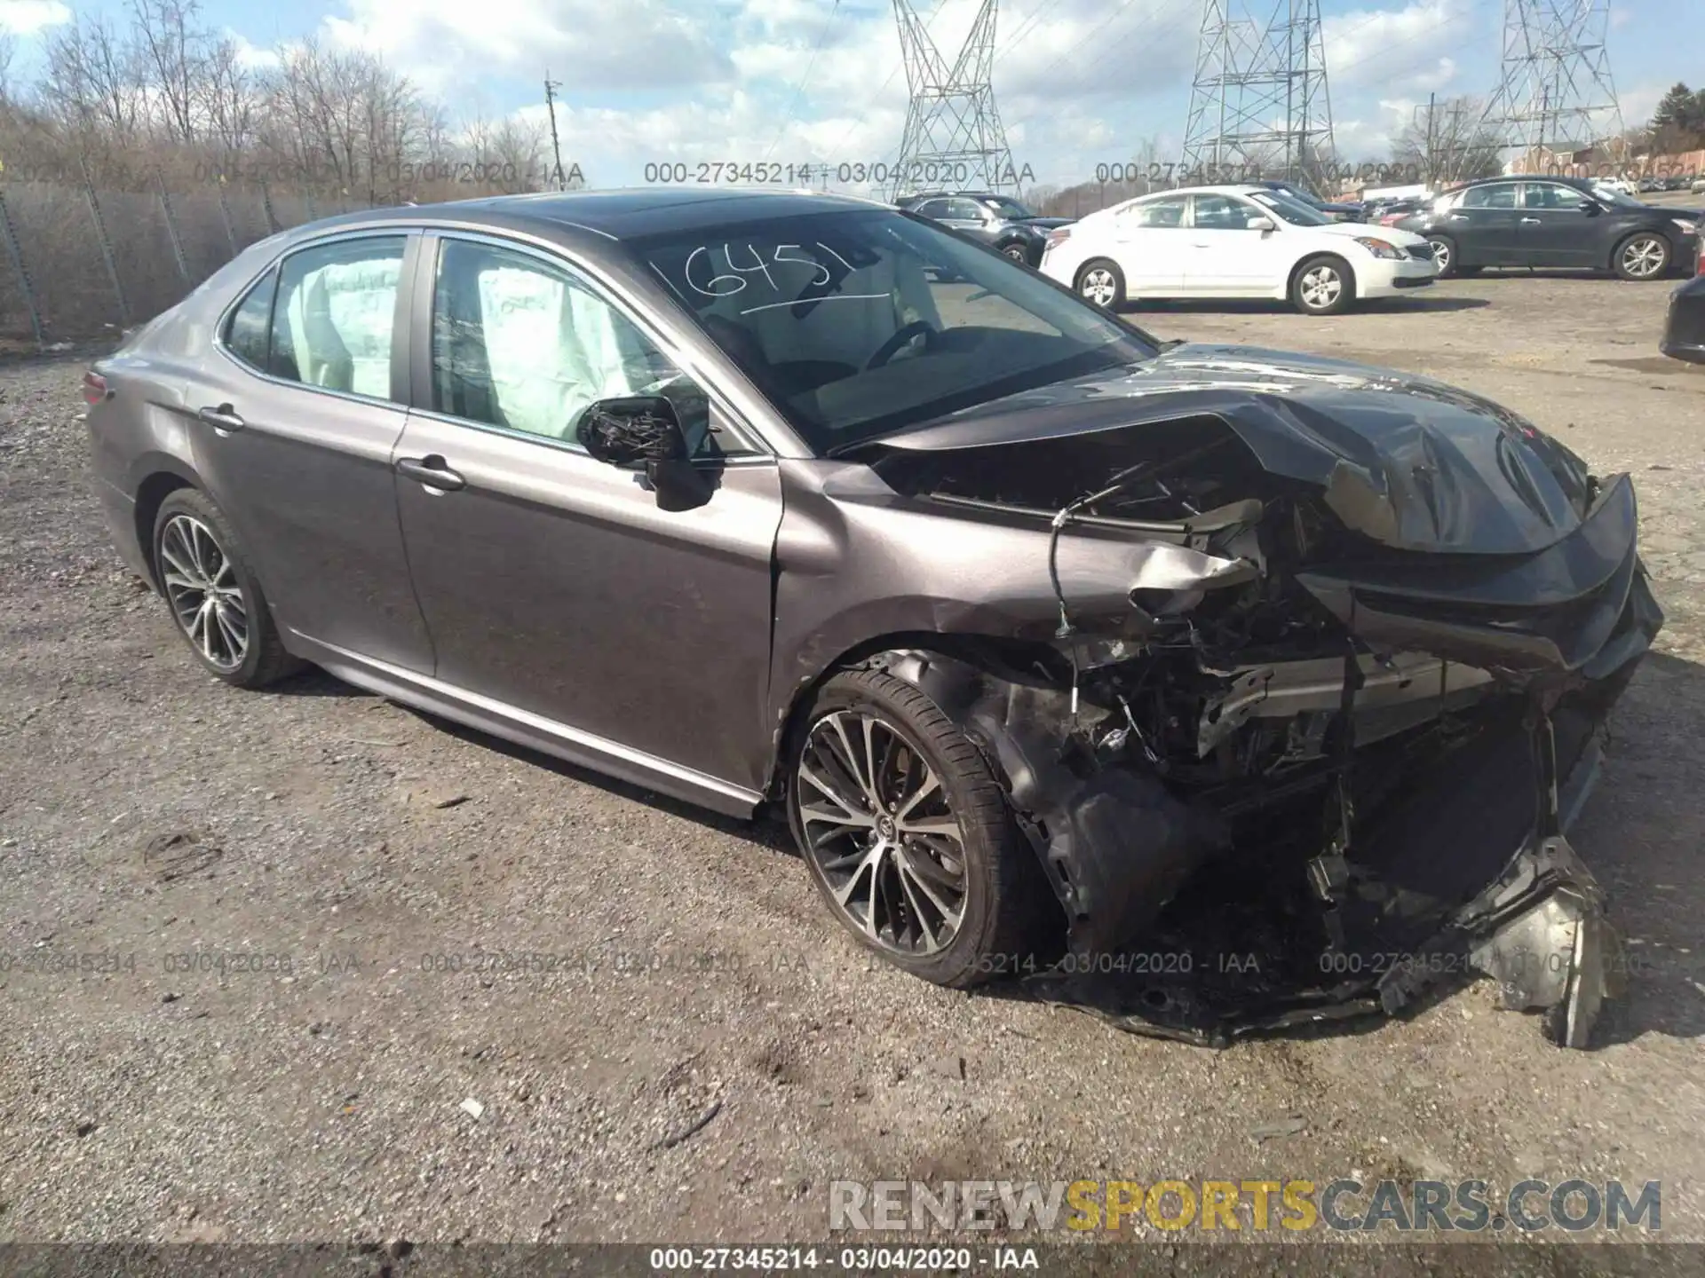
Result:
<svg viewBox="0 0 1705 1278"><path fill-rule="evenodd" d="M268 371L303 385L390 399L402 235L302 249L285 259Z"/></svg>

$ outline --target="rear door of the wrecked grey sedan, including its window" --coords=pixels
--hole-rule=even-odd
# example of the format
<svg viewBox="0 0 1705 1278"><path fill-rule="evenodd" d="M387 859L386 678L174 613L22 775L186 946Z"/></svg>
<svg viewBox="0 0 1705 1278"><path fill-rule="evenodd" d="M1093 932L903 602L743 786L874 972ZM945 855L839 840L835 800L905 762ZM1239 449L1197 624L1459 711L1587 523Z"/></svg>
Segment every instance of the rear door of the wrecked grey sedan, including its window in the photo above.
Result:
<svg viewBox="0 0 1705 1278"><path fill-rule="evenodd" d="M407 419L402 281L418 245L418 233L346 233L275 264L189 378L188 429L280 625L425 673L431 642L390 477Z"/></svg>

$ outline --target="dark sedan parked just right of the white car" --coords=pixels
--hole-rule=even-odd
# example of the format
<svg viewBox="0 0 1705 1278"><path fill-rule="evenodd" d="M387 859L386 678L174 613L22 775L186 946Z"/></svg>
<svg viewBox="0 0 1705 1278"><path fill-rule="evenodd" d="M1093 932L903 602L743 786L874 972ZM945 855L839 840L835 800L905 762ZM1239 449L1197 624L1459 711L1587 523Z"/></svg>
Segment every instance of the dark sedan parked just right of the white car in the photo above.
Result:
<svg viewBox="0 0 1705 1278"><path fill-rule="evenodd" d="M1432 242L1439 276L1560 266L1662 279L1698 252L1691 210L1642 204L1577 177L1488 177L1398 223Z"/></svg>

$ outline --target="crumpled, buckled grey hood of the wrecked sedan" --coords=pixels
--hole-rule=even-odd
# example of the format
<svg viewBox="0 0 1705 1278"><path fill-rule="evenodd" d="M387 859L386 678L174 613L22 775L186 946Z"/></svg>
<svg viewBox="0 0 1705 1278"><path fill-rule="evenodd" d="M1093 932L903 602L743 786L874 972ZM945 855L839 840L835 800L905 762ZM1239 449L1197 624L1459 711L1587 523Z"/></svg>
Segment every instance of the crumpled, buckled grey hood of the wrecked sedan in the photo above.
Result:
<svg viewBox="0 0 1705 1278"><path fill-rule="evenodd" d="M1533 554L1581 527L1586 463L1524 417L1430 378L1246 346L1176 346L885 436L951 452L1214 416L1275 475L1403 550Z"/></svg>

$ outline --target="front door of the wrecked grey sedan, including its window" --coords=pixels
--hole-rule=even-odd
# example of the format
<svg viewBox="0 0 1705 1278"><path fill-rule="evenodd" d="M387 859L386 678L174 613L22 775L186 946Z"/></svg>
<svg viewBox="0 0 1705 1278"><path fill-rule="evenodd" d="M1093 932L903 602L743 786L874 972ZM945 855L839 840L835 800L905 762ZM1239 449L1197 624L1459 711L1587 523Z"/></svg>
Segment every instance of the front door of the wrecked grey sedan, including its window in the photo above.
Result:
<svg viewBox="0 0 1705 1278"><path fill-rule="evenodd" d="M431 324L414 353L431 390L396 455L438 680L760 789L774 458L743 446L662 334L566 262L483 239L428 250ZM576 443L588 404L634 394L675 402L716 481L704 504L662 509L643 475Z"/></svg>

